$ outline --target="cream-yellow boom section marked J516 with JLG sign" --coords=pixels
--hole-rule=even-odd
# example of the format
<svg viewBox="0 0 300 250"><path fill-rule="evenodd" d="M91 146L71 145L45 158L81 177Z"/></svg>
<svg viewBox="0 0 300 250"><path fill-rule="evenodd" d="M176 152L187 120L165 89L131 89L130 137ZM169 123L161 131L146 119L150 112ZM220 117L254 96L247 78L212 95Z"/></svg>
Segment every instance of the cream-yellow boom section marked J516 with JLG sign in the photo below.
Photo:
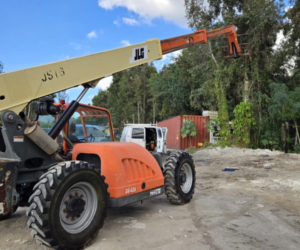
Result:
<svg viewBox="0 0 300 250"><path fill-rule="evenodd" d="M0 74L0 113L20 112L33 99L161 59L159 39Z"/></svg>

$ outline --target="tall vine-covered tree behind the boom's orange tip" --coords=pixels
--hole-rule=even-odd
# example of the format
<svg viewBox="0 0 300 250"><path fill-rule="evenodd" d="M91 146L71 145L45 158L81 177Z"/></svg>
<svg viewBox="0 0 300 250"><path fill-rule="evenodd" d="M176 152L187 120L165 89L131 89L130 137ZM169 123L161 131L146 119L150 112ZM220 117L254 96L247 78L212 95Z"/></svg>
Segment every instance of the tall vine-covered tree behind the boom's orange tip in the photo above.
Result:
<svg viewBox="0 0 300 250"><path fill-rule="evenodd" d="M210 40L206 45L206 53L209 56L206 65L213 69L212 74L205 75L206 79L214 82L217 93L218 111L221 115L224 134L228 135L227 117L233 117L230 113L234 105L243 102L255 101L256 92L268 94L269 81L276 81L280 75L277 70L282 65L274 67L281 60L273 56L273 46L276 36L282 28L284 20L282 0L209 0L208 6L204 0L185 0L186 17L189 26L194 29L218 28L236 24L238 33L248 33L252 47L250 58L221 61L218 53L221 43L219 39ZM204 57L203 55L198 55ZM214 64L214 65L213 65ZM204 70L207 70L207 66ZM282 71L282 70L281 70ZM213 79L212 79L213 78ZM229 100L231 101L229 105ZM263 126L262 105L257 102L258 131ZM230 107L230 110L229 110ZM230 111L230 112L229 112ZM258 143L259 133L254 133L253 138ZM252 137L252 136L250 136Z"/></svg>

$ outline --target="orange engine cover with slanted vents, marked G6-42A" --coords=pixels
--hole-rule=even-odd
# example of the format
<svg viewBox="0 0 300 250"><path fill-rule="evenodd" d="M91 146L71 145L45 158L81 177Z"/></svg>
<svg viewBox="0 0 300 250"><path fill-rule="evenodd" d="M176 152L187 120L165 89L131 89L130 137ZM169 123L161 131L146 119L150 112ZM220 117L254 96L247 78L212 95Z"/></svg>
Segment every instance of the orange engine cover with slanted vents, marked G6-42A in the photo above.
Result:
<svg viewBox="0 0 300 250"><path fill-rule="evenodd" d="M136 143L77 143L72 150L72 160L76 160L79 153L93 153L100 157L101 175L106 177L111 198L163 186L163 174L157 161L148 150Z"/></svg>

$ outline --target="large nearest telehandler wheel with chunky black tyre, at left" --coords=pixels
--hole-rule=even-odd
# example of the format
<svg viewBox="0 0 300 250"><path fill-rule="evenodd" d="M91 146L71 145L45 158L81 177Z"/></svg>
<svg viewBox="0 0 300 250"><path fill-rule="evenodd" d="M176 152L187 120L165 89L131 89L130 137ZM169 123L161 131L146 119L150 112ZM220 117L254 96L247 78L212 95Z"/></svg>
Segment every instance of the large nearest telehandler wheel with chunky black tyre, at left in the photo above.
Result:
<svg viewBox="0 0 300 250"><path fill-rule="evenodd" d="M106 216L108 185L104 179L99 169L83 161L50 167L29 197L31 236L62 248L91 244Z"/></svg>

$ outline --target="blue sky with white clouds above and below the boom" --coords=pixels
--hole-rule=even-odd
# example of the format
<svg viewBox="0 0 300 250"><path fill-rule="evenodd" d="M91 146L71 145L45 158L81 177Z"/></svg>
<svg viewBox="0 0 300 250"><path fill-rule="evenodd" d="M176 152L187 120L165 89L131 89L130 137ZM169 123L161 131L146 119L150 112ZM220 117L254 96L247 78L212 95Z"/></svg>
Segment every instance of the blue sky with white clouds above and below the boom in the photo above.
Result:
<svg viewBox="0 0 300 250"><path fill-rule="evenodd" d="M287 0L285 0L287 2ZM191 32L184 0L1 0L0 61L5 72ZM155 65L159 69L170 55ZM83 103L99 87L89 89ZM68 90L70 98L78 88Z"/></svg>

